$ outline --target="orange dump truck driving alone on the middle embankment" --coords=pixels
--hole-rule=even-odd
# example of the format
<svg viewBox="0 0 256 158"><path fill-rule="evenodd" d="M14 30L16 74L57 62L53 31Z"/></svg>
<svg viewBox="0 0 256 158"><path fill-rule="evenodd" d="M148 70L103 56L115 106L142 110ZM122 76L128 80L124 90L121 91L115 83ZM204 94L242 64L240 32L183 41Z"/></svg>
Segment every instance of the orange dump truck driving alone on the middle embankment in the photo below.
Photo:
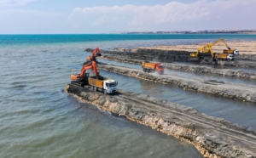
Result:
<svg viewBox="0 0 256 158"><path fill-rule="evenodd" d="M155 72L157 71L159 74L164 74L165 67L161 63L150 63L148 61L143 61L142 68L144 72Z"/></svg>

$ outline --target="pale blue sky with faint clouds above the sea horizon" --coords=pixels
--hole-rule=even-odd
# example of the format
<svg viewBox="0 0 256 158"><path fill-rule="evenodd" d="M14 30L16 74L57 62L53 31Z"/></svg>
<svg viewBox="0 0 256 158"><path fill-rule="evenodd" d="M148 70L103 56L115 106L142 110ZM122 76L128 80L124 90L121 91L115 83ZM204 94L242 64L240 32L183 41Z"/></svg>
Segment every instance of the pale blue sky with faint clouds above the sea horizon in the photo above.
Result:
<svg viewBox="0 0 256 158"><path fill-rule="evenodd" d="M0 34L256 29L256 0L0 0Z"/></svg>

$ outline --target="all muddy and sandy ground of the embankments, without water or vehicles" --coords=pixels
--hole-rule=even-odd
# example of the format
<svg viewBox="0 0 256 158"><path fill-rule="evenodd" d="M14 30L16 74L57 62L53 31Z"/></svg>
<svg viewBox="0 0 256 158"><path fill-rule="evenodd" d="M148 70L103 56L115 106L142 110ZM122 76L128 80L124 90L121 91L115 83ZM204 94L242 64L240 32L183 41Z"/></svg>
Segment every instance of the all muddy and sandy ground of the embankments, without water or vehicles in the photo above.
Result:
<svg viewBox="0 0 256 158"><path fill-rule="evenodd" d="M211 56L203 59L189 57L191 52L206 43L195 45L156 46L154 48L113 48L102 50L102 59L116 60L141 65L143 60L162 62L166 68L177 71L205 73L211 76L236 77L256 82L255 71L243 71L239 68L255 69L255 42L228 42L230 48L236 48L240 55L234 61L218 61L213 63ZM221 53L223 44L214 46L216 53ZM86 51L90 51L87 48ZM218 66L216 66L218 65ZM100 70L125 76L137 77L151 82L177 85L194 93L209 93L219 97L237 99L237 101L256 102L256 86L234 82L218 82L175 76L173 74L158 75L143 70L122 67L119 65L98 65ZM233 68L236 68L233 69ZM114 79L114 78L113 78ZM198 110L175 104L166 100L156 99L140 93L119 90L115 95L93 92L88 87L68 85L67 93L79 99L95 104L102 110L109 110L131 121L137 121L153 127L162 133L195 144L205 157L256 157L256 132L236 125L222 118L207 116ZM256 105L256 104L255 104ZM255 111L256 112L256 111Z"/></svg>

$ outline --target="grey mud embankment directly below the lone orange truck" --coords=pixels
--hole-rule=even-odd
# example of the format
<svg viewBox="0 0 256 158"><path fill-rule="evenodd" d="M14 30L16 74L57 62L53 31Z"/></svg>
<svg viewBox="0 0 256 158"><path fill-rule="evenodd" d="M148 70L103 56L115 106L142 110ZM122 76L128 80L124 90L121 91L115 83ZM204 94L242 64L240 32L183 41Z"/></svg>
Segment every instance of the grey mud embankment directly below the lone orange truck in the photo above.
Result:
<svg viewBox="0 0 256 158"><path fill-rule="evenodd" d="M195 90L201 93L212 93L230 99L256 102L256 86L236 84L232 82L218 82L212 80L200 80L173 76L170 74L158 75L146 73L137 69L121 67L117 65L98 65L99 69L111 71L125 76L134 76L152 82L173 84L184 89Z"/></svg>

